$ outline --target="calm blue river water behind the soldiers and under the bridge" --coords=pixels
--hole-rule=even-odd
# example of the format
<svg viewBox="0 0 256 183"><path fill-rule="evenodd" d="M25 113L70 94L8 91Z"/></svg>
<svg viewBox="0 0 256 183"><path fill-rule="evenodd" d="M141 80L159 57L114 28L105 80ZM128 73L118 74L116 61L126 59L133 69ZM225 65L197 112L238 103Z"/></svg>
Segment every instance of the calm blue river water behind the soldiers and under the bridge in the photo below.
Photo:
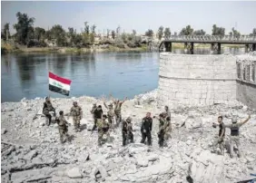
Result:
<svg viewBox="0 0 256 183"><path fill-rule="evenodd" d="M244 53L244 49L225 52ZM183 53L174 50L174 53ZM195 53L210 53L195 50ZM64 97L48 91L48 71L72 80L70 97L88 95L123 99L158 85L159 53L20 53L1 55L1 102L23 98Z"/></svg>

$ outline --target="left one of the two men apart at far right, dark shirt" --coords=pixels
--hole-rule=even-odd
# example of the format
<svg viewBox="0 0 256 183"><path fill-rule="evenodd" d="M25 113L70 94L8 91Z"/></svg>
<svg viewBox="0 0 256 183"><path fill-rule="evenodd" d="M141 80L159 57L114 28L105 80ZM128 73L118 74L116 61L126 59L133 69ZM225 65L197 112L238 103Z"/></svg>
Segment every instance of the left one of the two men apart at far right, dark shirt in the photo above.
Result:
<svg viewBox="0 0 256 183"><path fill-rule="evenodd" d="M216 152L216 147L219 145L221 149L221 154L224 155L224 137L225 137L225 126L223 123L223 117L219 116L218 117L218 122L219 122L219 136L218 139L213 142L213 152ZM217 124L214 122L212 123L212 127L216 128Z"/></svg>

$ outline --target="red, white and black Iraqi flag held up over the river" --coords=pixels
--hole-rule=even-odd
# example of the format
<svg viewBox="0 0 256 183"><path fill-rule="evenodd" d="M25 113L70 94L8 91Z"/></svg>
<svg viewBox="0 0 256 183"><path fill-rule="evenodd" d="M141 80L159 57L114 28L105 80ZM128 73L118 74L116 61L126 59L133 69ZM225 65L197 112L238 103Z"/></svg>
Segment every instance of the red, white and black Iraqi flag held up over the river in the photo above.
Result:
<svg viewBox="0 0 256 183"><path fill-rule="evenodd" d="M69 96L71 80L62 78L49 72L49 91Z"/></svg>

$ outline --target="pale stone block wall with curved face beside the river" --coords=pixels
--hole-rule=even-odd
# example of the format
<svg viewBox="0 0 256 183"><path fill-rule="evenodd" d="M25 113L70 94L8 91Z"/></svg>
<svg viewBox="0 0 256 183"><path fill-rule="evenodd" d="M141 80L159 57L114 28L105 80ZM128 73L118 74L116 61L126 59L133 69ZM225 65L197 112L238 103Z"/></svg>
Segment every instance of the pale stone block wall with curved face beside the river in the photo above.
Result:
<svg viewBox="0 0 256 183"><path fill-rule="evenodd" d="M243 55L241 59L241 56L231 54L161 53L159 104L170 107L179 104L199 106L214 103L229 104L238 100L249 107L256 108L256 64L255 62L244 63L244 57L249 56ZM253 58L255 57L251 56L250 61ZM251 66L244 66L248 64ZM238 65L241 67L240 70ZM248 79L249 76L247 77L248 74L250 79ZM242 78L243 76L245 78Z"/></svg>

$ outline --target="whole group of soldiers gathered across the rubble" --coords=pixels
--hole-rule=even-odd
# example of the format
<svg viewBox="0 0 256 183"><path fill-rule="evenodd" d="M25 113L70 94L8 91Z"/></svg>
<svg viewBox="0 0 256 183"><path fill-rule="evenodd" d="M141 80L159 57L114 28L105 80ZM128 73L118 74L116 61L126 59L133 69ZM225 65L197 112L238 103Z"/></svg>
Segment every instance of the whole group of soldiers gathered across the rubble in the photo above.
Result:
<svg viewBox="0 0 256 183"><path fill-rule="evenodd" d="M110 141L110 132L120 126L122 123L122 135L123 135L123 146L127 145L128 143L133 143L133 124L132 119L128 117L125 120L122 120L122 105L123 102L127 100L125 98L123 101L115 100L112 97L113 102L110 104L106 104L103 100L103 105L107 109L106 115L103 114L103 109L101 105L94 103L92 110L90 111L94 118L94 127L92 129L92 133L94 130L98 130L98 145L101 146L103 143L103 135L106 135L106 141ZM46 124L50 125L52 122L52 115L50 112L54 112L55 116L55 109L52 105L52 102L48 97L45 98L43 113L46 117ZM80 131L80 120L83 118L83 111L80 106L78 106L77 102L73 102L73 107L70 109L70 113L67 114L68 116L73 116L74 122L74 130ZM159 120L159 131L158 131L158 144L159 147L166 146L166 142L168 139L172 138L171 131L172 131L172 123L171 123L171 111L169 110L168 106L164 107L164 111L159 114L158 117L153 116L153 118ZM148 146L152 145L152 127L153 127L153 118L151 117L151 113L147 112L146 116L142 120L141 126L141 133L142 133L142 140L141 143L145 143ZM221 149L221 154L224 153L224 137L225 137L225 129L231 129L231 141L230 141L230 154L231 158L233 157L233 146L234 144L237 146L238 149L238 156L241 157L241 149L240 149L240 140L239 140L239 130L241 125L246 123L248 120L251 119L249 115L248 119L237 122L236 118L231 119L230 125L225 125L223 123L223 117L218 117L219 123L219 135L218 139L213 142L213 152L216 152L217 146ZM59 132L60 132L60 140L64 143L65 140L69 139L68 135L68 122L64 119L64 111L59 112L59 117L55 118L55 121L58 124ZM114 122L115 121L115 122ZM212 123L212 127L216 128L217 124ZM64 140L65 139L65 140Z"/></svg>

